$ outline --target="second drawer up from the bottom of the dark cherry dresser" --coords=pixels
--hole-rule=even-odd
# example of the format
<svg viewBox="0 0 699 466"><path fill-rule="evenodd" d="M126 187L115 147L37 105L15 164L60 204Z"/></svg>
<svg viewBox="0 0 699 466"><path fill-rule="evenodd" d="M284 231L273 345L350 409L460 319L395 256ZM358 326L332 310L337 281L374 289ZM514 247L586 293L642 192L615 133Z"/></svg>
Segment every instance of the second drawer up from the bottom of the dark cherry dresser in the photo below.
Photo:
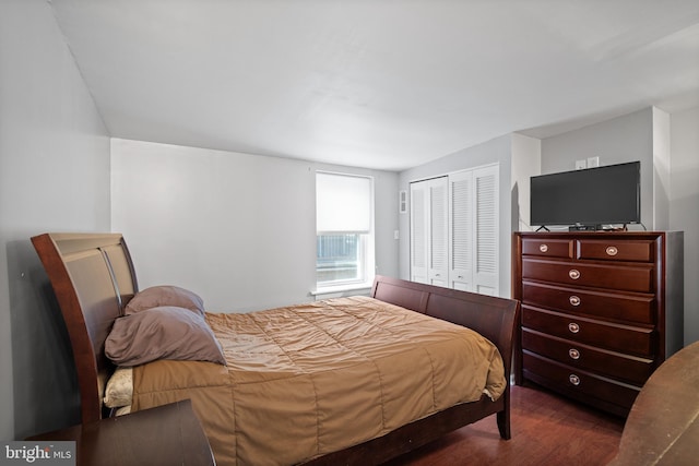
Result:
<svg viewBox="0 0 699 466"><path fill-rule="evenodd" d="M522 331L522 348L572 368L584 369L639 386L642 386L653 372L651 359L607 351L526 328Z"/></svg>

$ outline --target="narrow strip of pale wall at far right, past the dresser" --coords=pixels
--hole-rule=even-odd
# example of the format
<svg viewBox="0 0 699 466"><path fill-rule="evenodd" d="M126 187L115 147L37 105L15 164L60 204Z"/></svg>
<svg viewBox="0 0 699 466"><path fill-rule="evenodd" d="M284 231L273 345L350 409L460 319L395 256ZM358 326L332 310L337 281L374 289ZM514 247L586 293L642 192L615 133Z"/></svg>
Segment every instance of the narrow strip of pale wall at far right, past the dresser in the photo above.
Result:
<svg viewBox="0 0 699 466"><path fill-rule="evenodd" d="M685 232L685 345L699 340L699 107L671 115L670 227Z"/></svg>

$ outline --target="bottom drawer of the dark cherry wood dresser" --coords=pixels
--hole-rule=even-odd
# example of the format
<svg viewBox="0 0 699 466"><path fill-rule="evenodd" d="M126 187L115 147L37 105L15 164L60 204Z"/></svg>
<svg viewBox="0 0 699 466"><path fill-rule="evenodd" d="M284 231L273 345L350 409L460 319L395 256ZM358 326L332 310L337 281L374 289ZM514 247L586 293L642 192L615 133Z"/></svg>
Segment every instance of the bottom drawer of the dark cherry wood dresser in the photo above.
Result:
<svg viewBox="0 0 699 466"><path fill-rule="evenodd" d="M526 378L564 391L578 399L589 401L590 397L594 397L629 410L641 390L633 385L561 365L530 351L524 351L522 356Z"/></svg>

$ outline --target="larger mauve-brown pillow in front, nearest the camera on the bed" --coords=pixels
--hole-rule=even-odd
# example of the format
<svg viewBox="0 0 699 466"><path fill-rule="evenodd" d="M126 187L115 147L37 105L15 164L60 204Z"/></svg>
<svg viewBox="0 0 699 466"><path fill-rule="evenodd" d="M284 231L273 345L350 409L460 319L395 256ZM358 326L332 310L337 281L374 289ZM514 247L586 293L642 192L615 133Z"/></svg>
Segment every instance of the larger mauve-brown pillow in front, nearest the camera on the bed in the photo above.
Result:
<svg viewBox="0 0 699 466"><path fill-rule="evenodd" d="M226 365L221 345L204 318L171 306L117 319L105 342L105 354L123 367L157 359Z"/></svg>

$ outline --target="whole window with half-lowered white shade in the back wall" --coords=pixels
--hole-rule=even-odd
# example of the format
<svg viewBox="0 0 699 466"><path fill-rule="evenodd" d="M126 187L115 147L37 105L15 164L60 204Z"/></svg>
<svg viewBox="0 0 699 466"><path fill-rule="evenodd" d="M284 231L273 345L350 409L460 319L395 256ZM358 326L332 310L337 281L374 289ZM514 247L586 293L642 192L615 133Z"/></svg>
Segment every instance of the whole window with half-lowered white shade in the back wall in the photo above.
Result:
<svg viewBox="0 0 699 466"><path fill-rule="evenodd" d="M320 287L374 279L374 180L316 174L316 282Z"/></svg>

